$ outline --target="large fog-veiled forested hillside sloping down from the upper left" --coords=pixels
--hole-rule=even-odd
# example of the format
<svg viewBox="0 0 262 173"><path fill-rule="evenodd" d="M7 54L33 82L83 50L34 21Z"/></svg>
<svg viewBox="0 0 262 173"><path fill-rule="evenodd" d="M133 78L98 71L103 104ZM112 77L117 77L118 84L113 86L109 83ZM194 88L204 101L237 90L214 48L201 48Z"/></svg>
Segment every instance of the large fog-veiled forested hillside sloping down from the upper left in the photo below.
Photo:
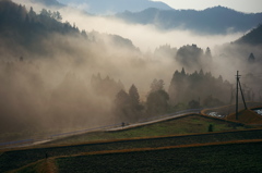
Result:
<svg viewBox="0 0 262 173"><path fill-rule="evenodd" d="M108 91L110 99L96 96L91 76L107 74L105 66L116 69L110 58L124 52L132 57L139 49L129 39L80 32L61 20L58 11L37 14L33 8L0 1L1 139L5 133L12 139L21 137L19 132L48 133L43 129L51 126L61 132L115 123L110 100L117 91Z"/></svg>

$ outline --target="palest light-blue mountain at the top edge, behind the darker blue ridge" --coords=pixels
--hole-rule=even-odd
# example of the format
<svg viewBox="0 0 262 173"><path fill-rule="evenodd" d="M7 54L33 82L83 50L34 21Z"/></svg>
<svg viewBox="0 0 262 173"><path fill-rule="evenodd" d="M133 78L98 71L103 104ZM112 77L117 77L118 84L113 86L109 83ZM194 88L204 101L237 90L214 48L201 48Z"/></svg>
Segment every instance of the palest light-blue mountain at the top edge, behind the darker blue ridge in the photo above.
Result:
<svg viewBox="0 0 262 173"><path fill-rule="evenodd" d="M126 10L139 12L148 8L171 10L166 3L150 0L59 0L59 2L81 7L82 10L93 14L115 14Z"/></svg>

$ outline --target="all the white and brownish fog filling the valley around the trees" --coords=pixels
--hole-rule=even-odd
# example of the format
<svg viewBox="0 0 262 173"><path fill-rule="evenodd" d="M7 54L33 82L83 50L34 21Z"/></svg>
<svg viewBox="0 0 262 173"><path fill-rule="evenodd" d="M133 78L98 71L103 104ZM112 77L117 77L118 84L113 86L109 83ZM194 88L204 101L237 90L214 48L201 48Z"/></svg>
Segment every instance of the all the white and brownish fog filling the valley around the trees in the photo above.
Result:
<svg viewBox="0 0 262 173"><path fill-rule="evenodd" d="M31 5L37 13L43 8L27 2L27 10ZM10 47L8 41L0 41L0 96L5 98L0 102L1 114L4 114L1 132L51 134L121 123L111 111L117 90L105 86L106 95L103 95L103 90L92 86L92 76L98 73L102 79L112 85L122 83L126 91L134 84L141 101L146 100L154 78L163 79L164 88L168 90L174 72L182 67L187 73L202 69L215 77L222 75L230 83L235 82L237 70L241 74L261 73L260 63L247 65L250 52L261 62L260 47L227 44L241 37L242 33L163 32L152 25L92 16L71 8L59 11L63 22L86 30L87 38L52 33L35 42L39 50L25 49L19 42L12 42ZM133 45L115 35L130 39ZM195 65L179 62L177 50L192 44L203 51L210 47L212 59L206 61L203 53ZM155 53L160 46L166 46L168 51Z"/></svg>

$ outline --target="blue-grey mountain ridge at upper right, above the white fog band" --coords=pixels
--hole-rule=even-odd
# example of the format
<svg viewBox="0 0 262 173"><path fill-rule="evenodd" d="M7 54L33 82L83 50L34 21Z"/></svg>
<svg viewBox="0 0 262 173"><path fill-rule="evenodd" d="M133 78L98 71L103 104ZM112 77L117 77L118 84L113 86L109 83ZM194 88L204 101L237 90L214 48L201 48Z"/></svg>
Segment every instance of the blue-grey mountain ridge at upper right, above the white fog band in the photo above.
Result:
<svg viewBox="0 0 262 173"><path fill-rule="evenodd" d="M162 29L189 29L202 34L247 32L262 22L262 13L242 13L215 7L203 11L146 9L141 12L126 11L116 17L130 23L154 24Z"/></svg>

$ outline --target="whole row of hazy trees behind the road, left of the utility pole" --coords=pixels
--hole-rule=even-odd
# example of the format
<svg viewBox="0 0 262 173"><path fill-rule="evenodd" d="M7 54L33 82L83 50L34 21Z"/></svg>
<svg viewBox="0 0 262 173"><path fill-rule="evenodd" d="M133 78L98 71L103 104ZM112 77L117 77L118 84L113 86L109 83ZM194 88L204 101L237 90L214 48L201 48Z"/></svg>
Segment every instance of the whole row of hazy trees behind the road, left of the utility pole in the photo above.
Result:
<svg viewBox="0 0 262 173"><path fill-rule="evenodd" d="M134 84L126 90L121 82L116 83L108 76L103 79L98 74L93 75L92 86L99 94L110 94L111 111L117 121L130 123L184 109L229 103L233 87L221 75L216 78L203 70L188 74L183 67L180 72L175 71L168 90L165 89L163 79L154 79L143 101Z"/></svg>

